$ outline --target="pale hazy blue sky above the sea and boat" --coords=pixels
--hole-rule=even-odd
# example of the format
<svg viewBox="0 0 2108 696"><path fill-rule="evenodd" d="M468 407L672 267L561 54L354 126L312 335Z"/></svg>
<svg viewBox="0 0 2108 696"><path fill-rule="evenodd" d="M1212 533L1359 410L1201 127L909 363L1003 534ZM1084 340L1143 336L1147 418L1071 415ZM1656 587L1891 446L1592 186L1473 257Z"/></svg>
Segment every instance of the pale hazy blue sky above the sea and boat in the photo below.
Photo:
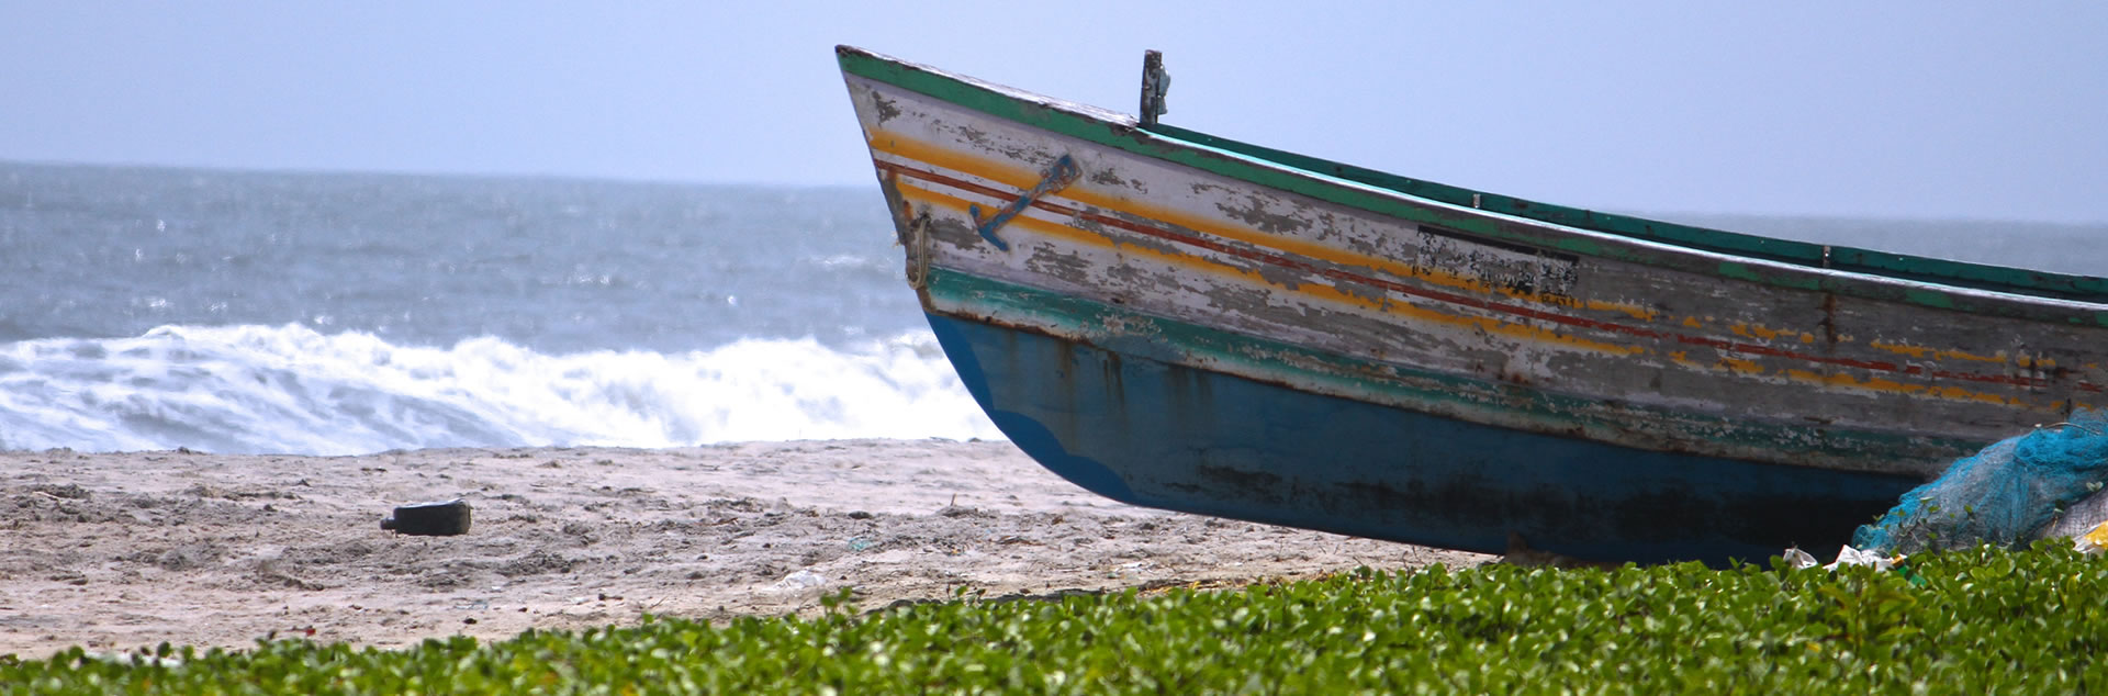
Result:
<svg viewBox="0 0 2108 696"><path fill-rule="evenodd" d="M0 160L871 183L835 44L1547 202L2108 221L2108 2L0 2Z"/></svg>

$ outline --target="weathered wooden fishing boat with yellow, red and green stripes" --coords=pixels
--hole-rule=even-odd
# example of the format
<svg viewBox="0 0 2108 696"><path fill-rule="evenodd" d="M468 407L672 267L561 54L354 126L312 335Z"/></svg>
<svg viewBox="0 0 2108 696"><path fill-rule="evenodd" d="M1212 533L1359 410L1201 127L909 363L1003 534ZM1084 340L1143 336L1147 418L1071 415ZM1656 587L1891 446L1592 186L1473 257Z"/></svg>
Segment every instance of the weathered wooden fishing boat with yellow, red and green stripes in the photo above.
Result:
<svg viewBox="0 0 2108 696"><path fill-rule="evenodd" d="M1543 205L837 49L930 327L1157 508L1577 559L1834 553L2104 401L2108 281ZM1996 230L1986 230L1996 234Z"/></svg>

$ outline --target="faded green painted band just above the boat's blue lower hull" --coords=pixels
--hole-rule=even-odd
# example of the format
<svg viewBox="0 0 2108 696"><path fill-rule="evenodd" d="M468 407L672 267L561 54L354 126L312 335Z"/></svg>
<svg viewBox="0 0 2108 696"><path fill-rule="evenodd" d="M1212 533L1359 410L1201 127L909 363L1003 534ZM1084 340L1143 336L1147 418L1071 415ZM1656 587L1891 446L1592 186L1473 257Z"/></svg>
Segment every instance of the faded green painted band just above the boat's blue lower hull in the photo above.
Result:
<svg viewBox="0 0 2108 696"><path fill-rule="evenodd" d="M1484 380L1436 373L1406 365L1379 363L1355 359L1336 352L1324 352L1315 348L1305 348L1296 344L1286 344L1277 340L1252 337L1244 333L1233 333L1225 329L1214 329L1206 325L1195 325L1176 318L1164 318L1132 308L1109 306L1075 295L1062 295L1054 291L1043 291L1035 287L1003 283L995 278L976 276L970 272L932 266L928 278L930 297L942 297L968 308L987 308L1003 312L1010 316L1031 316L1033 321L1056 327L1056 333L1067 333L1071 340L1086 340L1098 335L1105 327L1124 327L1126 335L1147 335L1145 342L1134 346L1102 346L1113 352L1130 352L1121 348L1134 348L1132 352L1149 359L1159 359L1185 367L1221 371L1221 367L1208 365L1240 365L1256 363L1254 373L1290 373L1290 380L1305 382L1303 386L1284 384L1288 388L1334 394L1345 399L1355 399L1347 394L1383 394L1391 403L1423 403L1423 405L1457 405L1473 411L1511 411L1499 405L1488 405L1486 394L1518 397L1518 390ZM940 312L946 316L957 316L965 321L987 323L982 316ZM1395 375L1395 378L1374 378L1374 375ZM1246 375L1250 380L1250 375ZM1269 380L1273 382L1273 380ZM1320 388L1311 388L1320 386ZM1366 401L1366 399L1360 399ZM1551 392L1528 390L1522 399L1522 411L1539 422L1554 424L1543 430L1549 434L1573 434L1575 428L1587 432L1629 432L1619 422L1604 418L1589 418L1589 413L1600 413L1602 399L1581 399L1564 397ZM1769 424L1769 422L1729 422L1718 415L1674 411L1663 407L1646 405L1621 405L1634 413L1646 413L1655 422L1682 426L1684 432L1697 439L1705 439L1722 445L1722 451L1743 451L1743 453L1775 453L1773 464L1796 464L1807 466L1807 453L1821 453L1844 462L1866 462L1876 453L1887 453L1906 464L1946 464L1954 458L1975 453L1988 443L1963 441L1937 434L1904 434L1904 432L1874 432L1874 430L1817 430L1809 426L1792 424ZM1712 432L1724 432L1726 437L1716 437ZM1807 449L1792 449L1792 443L1800 443ZM1720 453L1726 456L1726 453ZM1733 456L1729 456L1733 458ZM1863 468L1882 470L1882 468ZM1887 468L1882 472L1895 472L1897 468Z"/></svg>

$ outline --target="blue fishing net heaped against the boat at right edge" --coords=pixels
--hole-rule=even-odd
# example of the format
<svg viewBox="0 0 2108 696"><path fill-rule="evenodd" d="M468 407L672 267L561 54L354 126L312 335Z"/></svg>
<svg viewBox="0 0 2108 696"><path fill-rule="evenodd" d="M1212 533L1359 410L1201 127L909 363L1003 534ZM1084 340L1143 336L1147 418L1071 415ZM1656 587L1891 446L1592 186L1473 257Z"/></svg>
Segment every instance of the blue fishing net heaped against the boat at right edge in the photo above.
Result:
<svg viewBox="0 0 2108 696"><path fill-rule="evenodd" d="M1853 534L1878 553L2019 546L2108 479L2108 418L2087 411L1956 460Z"/></svg>

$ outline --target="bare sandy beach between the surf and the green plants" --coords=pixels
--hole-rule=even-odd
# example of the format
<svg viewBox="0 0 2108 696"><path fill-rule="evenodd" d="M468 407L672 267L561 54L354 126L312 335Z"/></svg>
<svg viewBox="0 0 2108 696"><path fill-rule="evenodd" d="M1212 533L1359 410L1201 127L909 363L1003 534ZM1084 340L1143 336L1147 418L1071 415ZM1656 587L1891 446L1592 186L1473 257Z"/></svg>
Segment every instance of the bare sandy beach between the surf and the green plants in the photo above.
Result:
<svg viewBox="0 0 2108 696"><path fill-rule="evenodd" d="M394 506L462 498L464 536ZM1117 504L1010 443L0 453L0 654L504 639L1492 557Z"/></svg>

